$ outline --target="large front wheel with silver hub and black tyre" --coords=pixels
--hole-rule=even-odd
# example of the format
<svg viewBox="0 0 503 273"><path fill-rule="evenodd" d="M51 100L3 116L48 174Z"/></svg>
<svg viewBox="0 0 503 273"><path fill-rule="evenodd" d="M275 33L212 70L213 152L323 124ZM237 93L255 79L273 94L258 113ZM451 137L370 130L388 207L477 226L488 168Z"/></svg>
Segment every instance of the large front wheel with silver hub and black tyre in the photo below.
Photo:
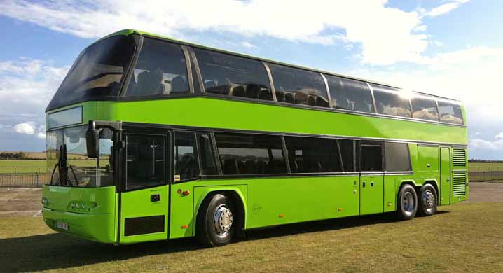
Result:
<svg viewBox="0 0 503 273"><path fill-rule="evenodd" d="M224 246L233 239L235 206L226 195L216 193L202 203L198 211L196 237L204 246Z"/></svg>

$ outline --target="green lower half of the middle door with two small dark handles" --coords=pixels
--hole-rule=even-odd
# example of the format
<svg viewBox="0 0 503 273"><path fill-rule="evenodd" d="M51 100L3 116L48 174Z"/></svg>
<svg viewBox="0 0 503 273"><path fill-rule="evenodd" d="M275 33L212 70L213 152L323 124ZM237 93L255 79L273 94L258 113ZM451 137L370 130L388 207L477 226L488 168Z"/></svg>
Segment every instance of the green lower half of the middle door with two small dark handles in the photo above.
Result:
<svg viewBox="0 0 503 273"><path fill-rule="evenodd" d="M383 212L383 175L360 176L360 215Z"/></svg>

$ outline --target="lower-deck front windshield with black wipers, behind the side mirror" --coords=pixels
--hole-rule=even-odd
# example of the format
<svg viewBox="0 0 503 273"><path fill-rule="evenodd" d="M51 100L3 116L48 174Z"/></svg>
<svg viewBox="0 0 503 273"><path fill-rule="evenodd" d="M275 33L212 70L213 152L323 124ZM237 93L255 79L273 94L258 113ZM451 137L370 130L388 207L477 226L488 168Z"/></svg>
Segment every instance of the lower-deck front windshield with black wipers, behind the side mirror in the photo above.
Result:
<svg viewBox="0 0 503 273"><path fill-rule="evenodd" d="M113 132L100 133L99 158L88 158L85 146L87 126L71 127L48 132L48 183L56 186L104 187L113 186ZM66 162L61 152L66 150ZM62 165L64 164L64 165ZM61 167L61 166L66 166ZM66 179L62 176L67 176Z"/></svg>

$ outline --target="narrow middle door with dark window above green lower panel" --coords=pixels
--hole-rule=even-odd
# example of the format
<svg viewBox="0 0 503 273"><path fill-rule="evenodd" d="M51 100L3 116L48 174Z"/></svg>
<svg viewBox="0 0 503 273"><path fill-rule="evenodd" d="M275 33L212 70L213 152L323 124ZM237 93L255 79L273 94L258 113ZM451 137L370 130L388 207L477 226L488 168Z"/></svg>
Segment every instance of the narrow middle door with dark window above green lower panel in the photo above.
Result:
<svg viewBox="0 0 503 273"><path fill-rule="evenodd" d="M383 143L362 141L360 151L360 215L383 212Z"/></svg>

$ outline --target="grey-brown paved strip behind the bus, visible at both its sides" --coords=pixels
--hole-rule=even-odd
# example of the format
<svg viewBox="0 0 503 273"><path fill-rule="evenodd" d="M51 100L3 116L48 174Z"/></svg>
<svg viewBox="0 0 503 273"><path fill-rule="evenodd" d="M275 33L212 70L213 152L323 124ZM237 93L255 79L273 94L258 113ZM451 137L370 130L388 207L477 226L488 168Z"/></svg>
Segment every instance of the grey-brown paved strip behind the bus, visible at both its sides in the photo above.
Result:
<svg viewBox="0 0 503 273"><path fill-rule="evenodd" d="M0 217L40 216L41 188L0 188ZM503 183L470 183L468 202L503 202Z"/></svg>

